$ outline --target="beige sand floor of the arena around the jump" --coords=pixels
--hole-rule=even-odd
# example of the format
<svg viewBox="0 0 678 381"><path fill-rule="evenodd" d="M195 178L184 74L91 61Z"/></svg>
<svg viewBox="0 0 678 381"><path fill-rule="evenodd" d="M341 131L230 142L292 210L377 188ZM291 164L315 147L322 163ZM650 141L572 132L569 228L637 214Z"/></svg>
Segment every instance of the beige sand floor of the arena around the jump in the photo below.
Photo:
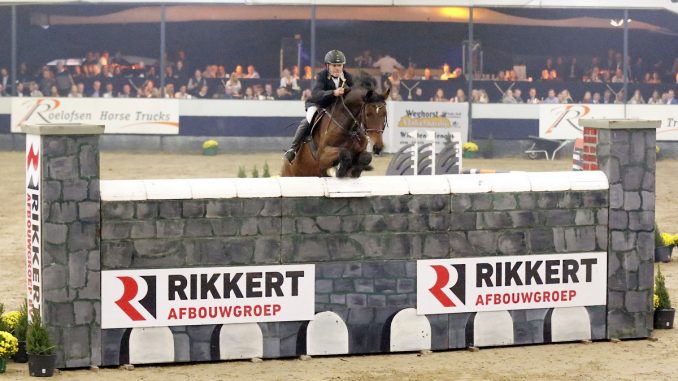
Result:
<svg viewBox="0 0 678 381"><path fill-rule="evenodd" d="M383 174L389 157L376 160L371 174ZM1 152L0 302L18 307L23 297L24 154ZM259 173L268 162L279 172L280 156L273 154L138 155L104 153L102 179L235 177L239 166L248 175L256 164ZM569 170L569 160L473 159L465 168L496 170ZM678 233L678 161L657 165L657 221L667 232ZM677 254L678 255L678 254ZM662 265L674 303L678 304L678 260ZM57 375L69 380L675 380L678 379L678 329L654 331L651 340L618 343L531 345L523 347L416 353L265 360L208 364L137 366L119 369L68 370ZM3 379L28 379L25 364L9 363Z"/></svg>

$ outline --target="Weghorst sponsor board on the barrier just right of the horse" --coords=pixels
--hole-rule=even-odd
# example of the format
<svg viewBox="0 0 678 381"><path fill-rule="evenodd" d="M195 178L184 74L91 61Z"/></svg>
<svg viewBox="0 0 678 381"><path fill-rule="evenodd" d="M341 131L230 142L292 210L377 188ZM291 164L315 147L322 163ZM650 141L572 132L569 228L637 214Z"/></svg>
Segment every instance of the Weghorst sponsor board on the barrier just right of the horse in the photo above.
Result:
<svg viewBox="0 0 678 381"><path fill-rule="evenodd" d="M397 152L414 143L412 132L423 141L427 131L435 131L438 150L448 136L457 133L466 142L468 134L468 103L450 102L388 102L386 152Z"/></svg>

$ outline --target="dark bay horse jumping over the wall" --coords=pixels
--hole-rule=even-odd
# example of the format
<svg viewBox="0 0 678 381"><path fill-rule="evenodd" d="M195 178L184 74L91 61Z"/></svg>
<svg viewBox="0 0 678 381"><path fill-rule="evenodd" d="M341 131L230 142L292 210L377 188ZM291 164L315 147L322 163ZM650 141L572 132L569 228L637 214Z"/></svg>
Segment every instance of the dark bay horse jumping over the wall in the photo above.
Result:
<svg viewBox="0 0 678 381"><path fill-rule="evenodd" d="M372 87L347 89L330 107L319 109L308 142L301 145L292 163L283 159L282 176L328 177L328 171L336 167L336 177L360 177L371 170L370 151L378 155L384 148L390 91L379 94Z"/></svg>

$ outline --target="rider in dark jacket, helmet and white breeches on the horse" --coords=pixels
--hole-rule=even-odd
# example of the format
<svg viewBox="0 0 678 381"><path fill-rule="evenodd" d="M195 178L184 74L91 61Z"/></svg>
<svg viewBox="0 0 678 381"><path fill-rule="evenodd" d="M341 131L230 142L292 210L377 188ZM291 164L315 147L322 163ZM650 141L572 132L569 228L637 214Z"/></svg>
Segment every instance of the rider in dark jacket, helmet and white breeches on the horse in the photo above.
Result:
<svg viewBox="0 0 678 381"><path fill-rule="evenodd" d="M353 86L353 77L344 70L346 56L339 50L330 50L325 54L325 70L315 77L315 86L311 98L306 101L306 118L304 118L294 133L292 147L285 152L285 158L290 163L294 160L302 140L311 130L311 121L318 107L328 107L336 97L344 94L345 89Z"/></svg>

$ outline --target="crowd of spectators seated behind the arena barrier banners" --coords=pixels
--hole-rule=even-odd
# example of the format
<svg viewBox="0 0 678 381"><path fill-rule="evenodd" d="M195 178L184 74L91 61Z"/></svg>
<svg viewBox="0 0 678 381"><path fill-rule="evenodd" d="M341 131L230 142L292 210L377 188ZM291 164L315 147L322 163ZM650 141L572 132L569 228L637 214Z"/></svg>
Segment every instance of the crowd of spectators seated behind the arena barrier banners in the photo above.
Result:
<svg viewBox="0 0 678 381"><path fill-rule="evenodd" d="M121 53L110 56L108 52L88 52L79 65L66 66L56 62L55 66L42 66L37 73L31 73L28 65L22 63L17 73L16 91L18 96L61 96L61 97L102 97L102 98L177 98L177 99L243 99L243 100L306 100L310 89L300 86L312 79L312 69L306 66L293 66L282 70L280 79L262 80L256 67L236 65L232 71L224 65L208 65L202 69L193 68L183 51L179 51L165 66L165 87L159 88L160 75L155 64L127 61ZM494 101L501 103L584 103L615 104L624 103L623 90L615 91L607 86L604 91L586 91L581 99L573 99L566 88L568 83L619 84L623 82L622 54L610 49L607 58L593 57L588 65L579 65L576 57L547 58L538 71L538 78L527 76L526 70L502 70L490 79L501 92ZM467 98L463 89L457 89L453 96L445 94L443 87L437 87L426 94L426 89L412 84L416 81L463 80L461 68L452 69L447 63L440 69L423 68L416 70L410 63L407 67L389 54L374 59L369 50L357 55L349 67L375 68L381 73L381 83L390 87L392 100L432 101L432 102L475 102L489 103L490 96L483 88L474 89ZM433 75L433 72L440 73ZM519 74L520 73L520 74ZM670 70L662 69L661 63L646 67L642 58L637 58L629 66L629 83L661 84L678 83L678 58ZM245 81L243 81L245 80ZM257 81L248 81L257 80ZM511 82L511 86L502 90L497 81ZM548 90L539 94L537 87L530 82L548 84ZM519 88L527 84L527 94L523 96ZM409 85L408 85L409 84ZM517 85L517 86L516 86ZM9 95L12 84L7 68L0 68L0 96ZM540 86L544 89L544 86ZM449 88L449 87L448 87ZM557 91L557 90L558 91ZM674 90L664 88L654 90L652 94L642 94L640 89L632 91L626 101L631 104L678 104ZM649 92L649 91L648 91ZM469 99L470 98L470 99Z"/></svg>

